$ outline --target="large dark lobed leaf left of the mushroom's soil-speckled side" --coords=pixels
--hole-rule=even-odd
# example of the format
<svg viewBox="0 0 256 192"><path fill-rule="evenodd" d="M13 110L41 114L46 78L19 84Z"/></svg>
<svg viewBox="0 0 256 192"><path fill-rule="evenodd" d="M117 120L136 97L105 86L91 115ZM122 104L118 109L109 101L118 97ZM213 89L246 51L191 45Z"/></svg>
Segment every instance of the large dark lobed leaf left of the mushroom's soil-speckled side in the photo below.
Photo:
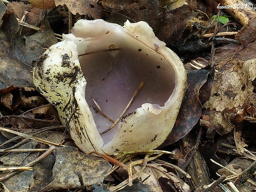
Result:
<svg viewBox="0 0 256 192"><path fill-rule="evenodd" d="M0 28L0 89L5 89L11 85L14 87L33 87L32 61L37 60L38 56L44 52L43 48L56 43L57 40L45 24L42 25L43 28L38 33L28 37L27 40L27 44L34 43L33 46L35 46L37 43L38 46L25 47L24 38L17 33L19 24L14 13L7 11L2 19L3 23ZM50 38L51 35L55 41ZM39 38L41 39L40 42L38 42Z"/></svg>

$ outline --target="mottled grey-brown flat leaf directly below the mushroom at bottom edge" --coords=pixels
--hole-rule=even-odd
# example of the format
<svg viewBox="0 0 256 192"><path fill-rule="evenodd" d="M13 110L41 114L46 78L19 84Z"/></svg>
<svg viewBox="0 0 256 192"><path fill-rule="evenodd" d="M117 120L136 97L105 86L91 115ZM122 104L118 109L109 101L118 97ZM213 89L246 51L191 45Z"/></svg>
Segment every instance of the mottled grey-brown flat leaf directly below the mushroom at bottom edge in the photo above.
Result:
<svg viewBox="0 0 256 192"><path fill-rule="evenodd" d="M100 184L111 165L100 157L85 155L73 147L56 149L52 182L42 192Z"/></svg>

